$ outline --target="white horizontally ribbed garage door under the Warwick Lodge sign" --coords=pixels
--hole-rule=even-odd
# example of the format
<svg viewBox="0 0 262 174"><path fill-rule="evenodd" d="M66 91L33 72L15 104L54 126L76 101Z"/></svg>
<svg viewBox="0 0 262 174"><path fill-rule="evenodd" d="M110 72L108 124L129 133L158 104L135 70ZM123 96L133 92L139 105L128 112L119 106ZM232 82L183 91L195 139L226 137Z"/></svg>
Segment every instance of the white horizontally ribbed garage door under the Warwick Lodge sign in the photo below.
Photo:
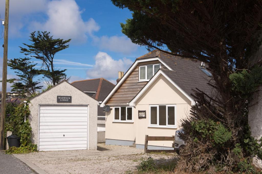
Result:
<svg viewBox="0 0 262 174"><path fill-rule="evenodd" d="M87 106L40 106L39 151L87 149Z"/></svg>

